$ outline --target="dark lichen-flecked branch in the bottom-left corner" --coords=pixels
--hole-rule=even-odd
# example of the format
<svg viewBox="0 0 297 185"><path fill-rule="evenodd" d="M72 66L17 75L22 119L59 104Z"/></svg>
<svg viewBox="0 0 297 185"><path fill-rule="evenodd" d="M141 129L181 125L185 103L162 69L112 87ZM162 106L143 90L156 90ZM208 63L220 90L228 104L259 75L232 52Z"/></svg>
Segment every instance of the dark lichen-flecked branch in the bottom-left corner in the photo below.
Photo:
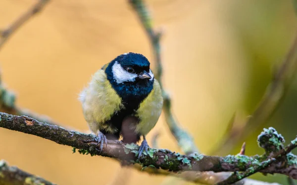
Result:
<svg viewBox="0 0 297 185"><path fill-rule="evenodd" d="M1 185L55 185L41 177L29 174L15 166L9 166L4 160L0 160L0 184Z"/></svg>

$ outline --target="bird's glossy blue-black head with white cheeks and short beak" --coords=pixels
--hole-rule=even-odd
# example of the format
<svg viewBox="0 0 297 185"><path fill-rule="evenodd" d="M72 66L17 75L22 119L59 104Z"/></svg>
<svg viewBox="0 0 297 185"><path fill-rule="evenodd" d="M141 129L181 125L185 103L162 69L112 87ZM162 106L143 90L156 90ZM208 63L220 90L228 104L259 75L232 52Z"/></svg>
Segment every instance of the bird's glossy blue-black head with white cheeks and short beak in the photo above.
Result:
<svg viewBox="0 0 297 185"><path fill-rule="evenodd" d="M154 76L148 59L138 53L125 53L111 61L105 69L107 79L121 98L146 97L153 88Z"/></svg>

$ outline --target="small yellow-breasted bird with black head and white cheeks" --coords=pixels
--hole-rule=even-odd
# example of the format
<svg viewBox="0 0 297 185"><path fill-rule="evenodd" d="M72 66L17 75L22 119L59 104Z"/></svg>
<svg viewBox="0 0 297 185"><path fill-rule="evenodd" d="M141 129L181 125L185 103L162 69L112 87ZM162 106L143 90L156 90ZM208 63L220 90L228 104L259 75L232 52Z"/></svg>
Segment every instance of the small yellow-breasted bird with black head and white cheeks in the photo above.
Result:
<svg viewBox="0 0 297 185"><path fill-rule="evenodd" d="M123 143L137 143L142 136L138 158L148 153L146 135L159 119L163 98L144 55L124 53L103 65L79 100L90 130L98 136L100 152L107 140L122 137Z"/></svg>

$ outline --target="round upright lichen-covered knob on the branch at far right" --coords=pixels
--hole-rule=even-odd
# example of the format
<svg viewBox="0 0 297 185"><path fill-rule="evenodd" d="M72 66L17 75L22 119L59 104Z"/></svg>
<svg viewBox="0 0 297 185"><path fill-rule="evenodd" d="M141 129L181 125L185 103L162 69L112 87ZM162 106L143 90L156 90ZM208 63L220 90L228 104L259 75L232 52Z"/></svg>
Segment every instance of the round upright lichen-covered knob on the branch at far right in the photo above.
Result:
<svg viewBox="0 0 297 185"><path fill-rule="evenodd" d="M267 154L284 148L285 139L274 128L269 127L268 129L264 128L264 131L258 136L257 142L259 147L264 148Z"/></svg>

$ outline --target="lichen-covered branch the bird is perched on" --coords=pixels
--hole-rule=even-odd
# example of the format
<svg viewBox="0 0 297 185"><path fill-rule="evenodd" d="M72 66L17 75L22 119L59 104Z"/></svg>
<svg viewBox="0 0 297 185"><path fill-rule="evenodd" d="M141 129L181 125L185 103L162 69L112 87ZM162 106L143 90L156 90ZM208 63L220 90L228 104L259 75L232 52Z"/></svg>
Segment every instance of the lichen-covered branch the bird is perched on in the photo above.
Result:
<svg viewBox="0 0 297 185"><path fill-rule="evenodd" d="M138 160L139 146L135 144L124 145L120 141L108 141L107 147L104 145L102 152L99 152L96 142L98 138L94 134L69 131L60 126L39 122L26 116L11 115L3 112L0 112L0 118L0 127L2 128L39 136L61 145L72 146L79 149L79 152L83 154L111 157L132 164L141 164L143 168L152 167L172 172L246 171L253 165L260 165L262 161L267 159L267 154L272 151L271 148L274 148L273 151L279 154L277 157L279 159L278 162L271 164L269 168L260 170L260 172L267 174L280 173L297 179L297 156L289 153L293 148L297 147L297 138L287 148L280 148L279 146L282 145L284 140L282 137L282 139L277 138L279 134L273 128L264 129L264 132L258 137L259 146L265 149L263 155L227 155L225 157L206 156L197 153L181 155L167 149L150 148L148 154ZM267 144L267 138L273 142Z"/></svg>

